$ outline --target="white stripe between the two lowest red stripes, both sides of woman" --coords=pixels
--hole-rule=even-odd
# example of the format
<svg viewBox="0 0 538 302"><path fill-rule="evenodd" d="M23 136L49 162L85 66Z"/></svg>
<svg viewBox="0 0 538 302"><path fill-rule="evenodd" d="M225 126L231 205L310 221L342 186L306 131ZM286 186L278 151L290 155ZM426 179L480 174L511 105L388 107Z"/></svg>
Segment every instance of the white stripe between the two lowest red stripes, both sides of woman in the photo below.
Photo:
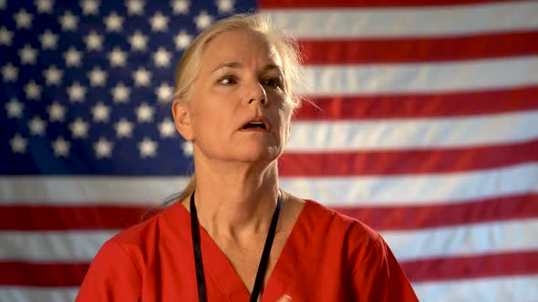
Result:
<svg viewBox="0 0 538 302"><path fill-rule="evenodd" d="M0 260L90 262L117 231L0 232ZM398 261L538 248L538 220L522 219L419 231L382 232Z"/></svg>

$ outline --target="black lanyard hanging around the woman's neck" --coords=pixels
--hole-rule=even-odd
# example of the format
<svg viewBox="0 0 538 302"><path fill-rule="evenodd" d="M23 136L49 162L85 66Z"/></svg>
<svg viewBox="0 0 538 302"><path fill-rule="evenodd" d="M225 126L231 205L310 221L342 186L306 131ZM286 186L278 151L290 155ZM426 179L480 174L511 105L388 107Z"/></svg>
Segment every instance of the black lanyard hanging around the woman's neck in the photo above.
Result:
<svg viewBox="0 0 538 302"><path fill-rule="evenodd" d="M282 196L279 192L276 207L274 208L273 219L271 220L271 226L269 227L269 232L265 238L264 252L262 253L258 272L256 273L256 280L254 281L250 302L257 301L260 291L262 290L265 270L267 269L269 254L271 253L271 247L273 246L274 233L276 233L276 223L278 222L281 199ZM207 302L207 289L205 287L205 277L203 276L202 247L200 245L200 227L198 223L198 215L196 214L196 206L194 205L194 192L192 192L191 195L191 235L192 249L194 250L194 264L196 266L196 283L198 284L198 299L200 302Z"/></svg>

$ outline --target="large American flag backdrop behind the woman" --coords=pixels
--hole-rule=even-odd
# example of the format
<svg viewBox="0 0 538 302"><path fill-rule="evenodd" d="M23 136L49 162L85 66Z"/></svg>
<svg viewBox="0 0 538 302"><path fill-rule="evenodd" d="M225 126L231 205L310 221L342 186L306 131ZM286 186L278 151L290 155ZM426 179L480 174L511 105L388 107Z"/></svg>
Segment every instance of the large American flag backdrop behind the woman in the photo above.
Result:
<svg viewBox="0 0 538 302"><path fill-rule="evenodd" d="M422 301L538 300L538 3L480 0L0 0L0 300L73 300L185 185L175 65L253 9L298 38L320 107L282 186L377 229Z"/></svg>

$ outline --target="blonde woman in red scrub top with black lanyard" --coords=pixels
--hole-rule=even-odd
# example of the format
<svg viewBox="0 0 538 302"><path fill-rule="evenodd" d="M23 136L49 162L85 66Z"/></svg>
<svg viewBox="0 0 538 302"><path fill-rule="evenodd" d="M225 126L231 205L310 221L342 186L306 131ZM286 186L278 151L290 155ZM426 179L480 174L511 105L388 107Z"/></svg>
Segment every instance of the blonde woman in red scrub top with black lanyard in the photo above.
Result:
<svg viewBox="0 0 538 302"><path fill-rule="evenodd" d="M260 15L193 41L172 114L193 144L196 180L105 243L78 301L417 301L377 233L279 188L296 49Z"/></svg>

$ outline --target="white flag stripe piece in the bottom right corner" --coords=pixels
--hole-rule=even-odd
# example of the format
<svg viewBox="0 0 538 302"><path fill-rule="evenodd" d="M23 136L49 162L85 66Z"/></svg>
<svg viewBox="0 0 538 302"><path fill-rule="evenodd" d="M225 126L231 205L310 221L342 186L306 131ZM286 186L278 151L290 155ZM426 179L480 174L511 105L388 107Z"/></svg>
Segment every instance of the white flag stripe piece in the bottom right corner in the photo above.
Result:
<svg viewBox="0 0 538 302"><path fill-rule="evenodd" d="M538 275L424 282L413 288L422 302L538 301Z"/></svg>

